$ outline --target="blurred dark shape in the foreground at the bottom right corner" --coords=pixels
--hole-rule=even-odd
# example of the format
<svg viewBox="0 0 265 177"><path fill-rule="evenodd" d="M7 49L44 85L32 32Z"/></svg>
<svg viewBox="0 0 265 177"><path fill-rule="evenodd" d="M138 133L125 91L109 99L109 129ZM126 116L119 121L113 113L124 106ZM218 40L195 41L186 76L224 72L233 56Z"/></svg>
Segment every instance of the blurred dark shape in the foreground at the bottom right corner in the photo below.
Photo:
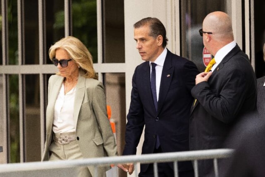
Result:
<svg viewBox="0 0 265 177"><path fill-rule="evenodd" d="M262 85L263 86L263 85ZM265 122L258 114L242 117L229 137L235 149L231 158L218 161L220 177L264 177L265 174ZM213 175L214 176L214 175Z"/></svg>

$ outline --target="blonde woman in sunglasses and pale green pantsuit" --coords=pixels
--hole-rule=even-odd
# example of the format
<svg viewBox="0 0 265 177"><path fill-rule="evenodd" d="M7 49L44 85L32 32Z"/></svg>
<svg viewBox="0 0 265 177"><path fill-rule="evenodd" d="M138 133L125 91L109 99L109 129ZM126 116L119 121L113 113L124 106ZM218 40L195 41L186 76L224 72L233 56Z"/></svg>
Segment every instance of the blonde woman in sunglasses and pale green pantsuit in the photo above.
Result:
<svg viewBox="0 0 265 177"><path fill-rule="evenodd" d="M104 87L96 80L88 49L79 39L68 36L50 47L49 57L59 72L48 83L42 160L116 156ZM98 176L106 176L109 168L98 168ZM79 172L79 176L94 176L92 166L80 167Z"/></svg>

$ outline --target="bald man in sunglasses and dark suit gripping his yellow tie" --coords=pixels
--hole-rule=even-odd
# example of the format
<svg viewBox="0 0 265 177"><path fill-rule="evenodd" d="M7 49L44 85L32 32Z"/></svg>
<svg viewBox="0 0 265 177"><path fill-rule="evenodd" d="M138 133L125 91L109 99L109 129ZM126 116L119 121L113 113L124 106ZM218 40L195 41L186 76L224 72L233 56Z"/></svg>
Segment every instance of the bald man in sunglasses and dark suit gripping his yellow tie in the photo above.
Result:
<svg viewBox="0 0 265 177"><path fill-rule="evenodd" d="M257 109L256 76L248 56L234 41L232 21L224 12L209 13L200 34L214 56L211 71L196 76L190 119L190 150L225 148L240 117ZM198 161L199 176L213 170L212 160Z"/></svg>

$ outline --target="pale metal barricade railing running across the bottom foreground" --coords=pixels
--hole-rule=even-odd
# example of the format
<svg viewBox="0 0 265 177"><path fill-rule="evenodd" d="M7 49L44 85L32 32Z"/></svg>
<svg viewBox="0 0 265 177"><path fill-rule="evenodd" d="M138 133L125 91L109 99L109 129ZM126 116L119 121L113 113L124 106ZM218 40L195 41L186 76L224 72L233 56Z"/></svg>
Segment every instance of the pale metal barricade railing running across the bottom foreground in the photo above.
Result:
<svg viewBox="0 0 265 177"><path fill-rule="evenodd" d="M153 163L154 176L158 177L157 163L173 162L174 175L178 177L178 163L179 161L193 161L195 177L198 177L198 160L212 159L214 163L214 173L218 177L217 159L224 159L231 157L232 149L210 149L198 151L183 151L172 153L158 153L158 154L143 154L143 155L126 155L116 157L99 157L90 159L76 159L62 161L45 161L45 162L26 162L26 163L12 163L0 164L0 176L4 172L27 171L27 170L47 170L60 168L73 168L80 166L94 166L95 177L98 177L98 166L107 166L111 164L135 164L135 176L138 175L139 169L137 163Z"/></svg>

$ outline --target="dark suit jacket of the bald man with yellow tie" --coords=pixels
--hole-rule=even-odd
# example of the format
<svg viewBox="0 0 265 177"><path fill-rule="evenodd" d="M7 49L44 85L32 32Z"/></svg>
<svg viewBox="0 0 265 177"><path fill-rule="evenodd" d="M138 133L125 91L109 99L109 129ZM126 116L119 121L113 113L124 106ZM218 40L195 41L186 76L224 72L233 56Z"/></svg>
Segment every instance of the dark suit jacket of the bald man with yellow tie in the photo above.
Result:
<svg viewBox="0 0 265 177"><path fill-rule="evenodd" d="M255 111L256 76L247 55L236 45L213 71L208 82L192 88L197 102L190 119L190 150L222 148L241 115ZM212 160L200 160L199 176L213 168Z"/></svg>

